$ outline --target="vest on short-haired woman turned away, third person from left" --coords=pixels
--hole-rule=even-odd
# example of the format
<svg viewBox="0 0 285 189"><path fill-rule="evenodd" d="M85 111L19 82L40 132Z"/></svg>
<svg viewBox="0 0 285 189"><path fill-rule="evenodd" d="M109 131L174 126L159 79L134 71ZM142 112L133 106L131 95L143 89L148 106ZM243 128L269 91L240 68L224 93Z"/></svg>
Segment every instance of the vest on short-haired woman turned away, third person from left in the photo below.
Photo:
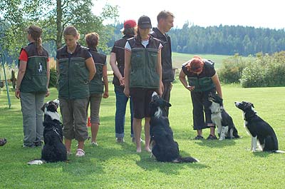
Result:
<svg viewBox="0 0 285 189"><path fill-rule="evenodd" d="M93 56L95 63L96 73L94 78L89 83L90 94L101 94L104 92L103 66L106 65L106 56L102 53L98 53L96 49L90 48L89 52Z"/></svg>

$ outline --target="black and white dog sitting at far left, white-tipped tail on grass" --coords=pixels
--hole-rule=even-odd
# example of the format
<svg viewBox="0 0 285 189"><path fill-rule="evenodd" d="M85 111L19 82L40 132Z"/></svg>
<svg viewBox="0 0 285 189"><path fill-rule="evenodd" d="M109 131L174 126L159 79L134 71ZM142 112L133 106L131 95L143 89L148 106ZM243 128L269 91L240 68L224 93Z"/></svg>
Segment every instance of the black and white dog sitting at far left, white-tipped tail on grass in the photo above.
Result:
<svg viewBox="0 0 285 189"><path fill-rule="evenodd" d="M66 161L66 146L63 144L63 128L57 108L58 99L48 101L43 104L43 149L41 150L41 160L32 160L28 164L40 165L42 163L52 163Z"/></svg>

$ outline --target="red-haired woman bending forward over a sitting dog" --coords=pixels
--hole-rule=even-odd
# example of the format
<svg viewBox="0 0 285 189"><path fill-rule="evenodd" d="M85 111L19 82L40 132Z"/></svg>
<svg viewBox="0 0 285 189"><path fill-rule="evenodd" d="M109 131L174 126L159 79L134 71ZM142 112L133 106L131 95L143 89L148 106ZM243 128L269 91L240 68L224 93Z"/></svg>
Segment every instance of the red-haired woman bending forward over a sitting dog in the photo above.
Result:
<svg viewBox="0 0 285 189"><path fill-rule="evenodd" d="M188 78L189 85L185 76ZM197 130L195 140L203 138L202 129L204 128L210 128L208 140L217 139L214 134L214 123L211 121L211 111L209 110L211 102L208 100L209 93L215 93L216 91L222 98L222 88L214 70L214 63L199 56L194 56L190 61L182 64L179 79L191 93L193 125L194 130Z"/></svg>

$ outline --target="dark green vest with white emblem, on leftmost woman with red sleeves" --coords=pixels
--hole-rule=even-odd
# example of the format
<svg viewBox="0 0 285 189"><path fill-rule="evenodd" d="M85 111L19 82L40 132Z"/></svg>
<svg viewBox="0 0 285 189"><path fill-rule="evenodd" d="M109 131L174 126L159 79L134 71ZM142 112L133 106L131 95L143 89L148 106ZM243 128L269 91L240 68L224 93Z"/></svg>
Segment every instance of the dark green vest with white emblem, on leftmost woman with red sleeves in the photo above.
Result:
<svg viewBox="0 0 285 189"><path fill-rule="evenodd" d="M46 76L48 52L43 48L43 52L38 54L36 45L33 43L28 44L23 49L28 54L28 61L20 91L24 93L46 93L48 89L48 77Z"/></svg>

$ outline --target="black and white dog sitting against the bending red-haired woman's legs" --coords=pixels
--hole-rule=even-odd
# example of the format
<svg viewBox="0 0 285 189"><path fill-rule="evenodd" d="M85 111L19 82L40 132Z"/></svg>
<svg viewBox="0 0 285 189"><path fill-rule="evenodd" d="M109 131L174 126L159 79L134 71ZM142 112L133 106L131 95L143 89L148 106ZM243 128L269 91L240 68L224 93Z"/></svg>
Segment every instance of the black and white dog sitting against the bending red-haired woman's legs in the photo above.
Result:
<svg viewBox="0 0 285 189"><path fill-rule="evenodd" d="M217 126L219 141L224 139L239 138L237 128L234 126L232 117L229 116L224 110L223 99L217 95L217 93L209 93L209 101L212 105L209 106L211 110L211 120Z"/></svg>

